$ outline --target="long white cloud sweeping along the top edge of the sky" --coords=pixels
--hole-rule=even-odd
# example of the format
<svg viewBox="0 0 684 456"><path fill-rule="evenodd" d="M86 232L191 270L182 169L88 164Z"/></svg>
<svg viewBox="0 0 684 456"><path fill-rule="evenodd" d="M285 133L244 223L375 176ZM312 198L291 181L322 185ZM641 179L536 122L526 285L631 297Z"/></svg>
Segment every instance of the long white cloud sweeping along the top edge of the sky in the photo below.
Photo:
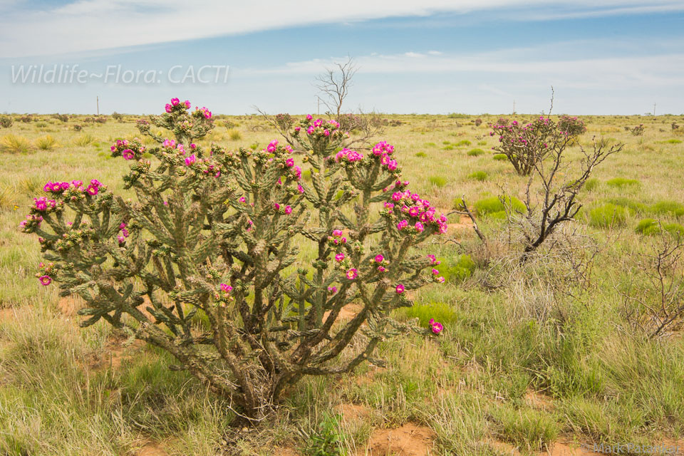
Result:
<svg viewBox="0 0 684 456"><path fill-rule="evenodd" d="M27 11L21 8L21 1L9 1L0 19L3 58L94 51L308 24L427 16L437 11L466 13L554 4L552 0L348 0L343 9L315 1L303 9L281 0L77 0ZM578 0L571 10L564 9L561 14L624 14L644 8L670 11L683 5L680 0L653 0L648 7L641 0Z"/></svg>

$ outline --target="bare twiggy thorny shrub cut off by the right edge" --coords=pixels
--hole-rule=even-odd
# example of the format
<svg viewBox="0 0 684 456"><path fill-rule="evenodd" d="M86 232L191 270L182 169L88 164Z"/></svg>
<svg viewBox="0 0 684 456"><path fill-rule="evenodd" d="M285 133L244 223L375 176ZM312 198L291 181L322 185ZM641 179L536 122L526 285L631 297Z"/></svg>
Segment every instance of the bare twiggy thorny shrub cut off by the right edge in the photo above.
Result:
<svg viewBox="0 0 684 456"><path fill-rule="evenodd" d="M684 317L684 241L665 233L646 253L626 257L621 281L613 279L622 314L633 331L648 338L670 336Z"/></svg>

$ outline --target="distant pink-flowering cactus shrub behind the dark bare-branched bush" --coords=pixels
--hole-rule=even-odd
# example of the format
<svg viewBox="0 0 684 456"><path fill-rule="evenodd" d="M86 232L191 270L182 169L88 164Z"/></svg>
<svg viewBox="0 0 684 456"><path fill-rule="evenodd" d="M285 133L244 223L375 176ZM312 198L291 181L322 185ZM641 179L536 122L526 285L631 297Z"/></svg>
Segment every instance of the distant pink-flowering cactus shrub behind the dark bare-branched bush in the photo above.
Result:
<svg viewBox="0 0 684 456"><path fill-rule="evenodd" d="M505 155L519 175L529 176L544 157L562 151L574 142L577 132L584 127L584 123L580 123L581 120L572 118L562 118L556 123L541 115L527 124L517 120L492 124L489 135L499 135L500 144L492 149Z"/></svg>

